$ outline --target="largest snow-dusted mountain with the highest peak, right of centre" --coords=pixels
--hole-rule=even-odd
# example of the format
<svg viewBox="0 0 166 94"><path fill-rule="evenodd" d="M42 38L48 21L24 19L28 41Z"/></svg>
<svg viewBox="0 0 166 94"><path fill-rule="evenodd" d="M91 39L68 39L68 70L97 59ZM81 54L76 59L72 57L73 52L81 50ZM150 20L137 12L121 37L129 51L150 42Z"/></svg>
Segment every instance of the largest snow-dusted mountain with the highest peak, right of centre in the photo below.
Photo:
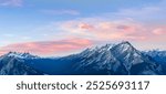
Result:
<svg viewBox="0 0 166 94"><path fill-rule="evenodd" d="M85 50L77 54L75 72L81 74L160 74L162 67L129 42Z"/></svg>

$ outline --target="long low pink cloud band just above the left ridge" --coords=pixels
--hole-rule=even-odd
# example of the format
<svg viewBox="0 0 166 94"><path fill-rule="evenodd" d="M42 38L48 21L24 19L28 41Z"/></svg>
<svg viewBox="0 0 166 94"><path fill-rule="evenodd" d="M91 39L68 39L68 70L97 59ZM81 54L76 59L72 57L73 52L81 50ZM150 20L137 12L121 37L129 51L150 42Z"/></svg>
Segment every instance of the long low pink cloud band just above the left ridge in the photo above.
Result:
<svg viewBox="0 0 166 94"><path fill-rule="evenodd" d="M87 48L92 44L93 42L90 40L77 38L60 41L27 42L0 48L0 54L8 53L9 51L30 52L38 55L65 54L71 51Z"/></svg>

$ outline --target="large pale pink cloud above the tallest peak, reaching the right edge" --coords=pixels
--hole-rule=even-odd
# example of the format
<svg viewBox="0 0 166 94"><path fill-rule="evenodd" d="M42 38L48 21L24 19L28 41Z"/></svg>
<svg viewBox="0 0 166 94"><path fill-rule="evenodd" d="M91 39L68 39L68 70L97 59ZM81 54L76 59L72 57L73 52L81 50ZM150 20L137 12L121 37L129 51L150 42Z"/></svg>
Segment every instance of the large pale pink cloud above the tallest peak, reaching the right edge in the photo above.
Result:
<svg viewBox="0 0 166 94"><path fill-rule="evenodd" d="M79 19L61 22L62 31L94 41L153 41L165 39L165 27L141 23L134 20ZM156 36L157 35L157 36ZM158 36L159 35L159 36Z"/></svg>

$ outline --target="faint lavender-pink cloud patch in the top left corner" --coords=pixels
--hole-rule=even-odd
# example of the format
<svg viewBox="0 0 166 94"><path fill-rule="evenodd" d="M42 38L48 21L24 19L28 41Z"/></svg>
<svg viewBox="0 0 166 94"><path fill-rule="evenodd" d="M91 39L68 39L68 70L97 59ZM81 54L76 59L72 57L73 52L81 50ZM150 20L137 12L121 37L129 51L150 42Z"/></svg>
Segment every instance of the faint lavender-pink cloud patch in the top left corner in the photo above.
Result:
<svg viewBox="0 0 166 94"><path fill-rule="evenodd" d="M3 7L21 7L23 3L22 0L1 0L0 6Z"/></svg>

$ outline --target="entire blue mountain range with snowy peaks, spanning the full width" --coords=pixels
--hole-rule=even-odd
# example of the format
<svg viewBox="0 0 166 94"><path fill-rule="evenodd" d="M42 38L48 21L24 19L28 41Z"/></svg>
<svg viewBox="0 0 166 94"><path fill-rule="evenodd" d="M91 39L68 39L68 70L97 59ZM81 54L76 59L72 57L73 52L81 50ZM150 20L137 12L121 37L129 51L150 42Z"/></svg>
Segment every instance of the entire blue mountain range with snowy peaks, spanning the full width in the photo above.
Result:
<svg viewBox="0 0 166 94"><path fill-rule="evenodd" d="M86 49L63 58L9 52L0 56L1 75L165 75L166 51L143 52L129 42Z"/></svg>

